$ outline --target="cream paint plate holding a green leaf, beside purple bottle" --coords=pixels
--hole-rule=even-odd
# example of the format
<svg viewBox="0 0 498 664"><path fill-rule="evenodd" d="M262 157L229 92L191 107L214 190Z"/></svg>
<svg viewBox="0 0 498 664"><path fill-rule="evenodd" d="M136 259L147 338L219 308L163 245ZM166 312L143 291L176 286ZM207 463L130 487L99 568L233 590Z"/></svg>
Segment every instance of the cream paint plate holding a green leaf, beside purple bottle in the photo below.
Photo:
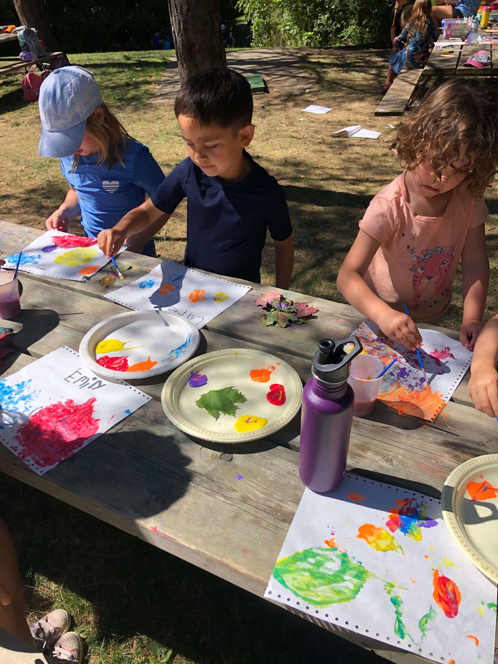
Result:
<svg viewBox="0 0 498 664"><path fill-rule="evenodd" d="M257 350L226 349L177 369L166 381L161 401L168 418L185 433L236 443L265 438L282 429L299 411L302 396L301 379L278 357ZM217 404L220 410L216 410Z"/></svg>

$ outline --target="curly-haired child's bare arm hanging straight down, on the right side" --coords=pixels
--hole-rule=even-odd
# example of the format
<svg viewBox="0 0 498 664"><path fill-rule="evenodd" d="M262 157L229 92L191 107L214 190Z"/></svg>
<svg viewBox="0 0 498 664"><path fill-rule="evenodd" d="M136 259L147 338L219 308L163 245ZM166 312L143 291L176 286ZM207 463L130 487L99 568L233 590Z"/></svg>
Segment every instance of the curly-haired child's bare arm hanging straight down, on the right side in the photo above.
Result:
<svg viewBox="0 0 498 664"><path fill-rule="evenodd" d="M489 284L489 260L487 258L484 224L471 228L461 252L461 281L463 286L463 321L460 341L469 351L473 350L479 332L483 328L484 307Z"/></svg>

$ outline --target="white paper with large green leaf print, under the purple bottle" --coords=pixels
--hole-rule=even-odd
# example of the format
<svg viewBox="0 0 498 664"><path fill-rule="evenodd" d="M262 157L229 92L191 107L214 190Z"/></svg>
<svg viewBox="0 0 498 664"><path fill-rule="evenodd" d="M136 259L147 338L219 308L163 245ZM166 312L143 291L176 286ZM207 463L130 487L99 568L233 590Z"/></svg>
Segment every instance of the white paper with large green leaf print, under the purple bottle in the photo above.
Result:
<svg viewBox="0 0 498 664"><path fill-rule="evenodd" d="M497 590L414 491L349 474L305 489L265 597L437 662L493 664Z"/></svg>

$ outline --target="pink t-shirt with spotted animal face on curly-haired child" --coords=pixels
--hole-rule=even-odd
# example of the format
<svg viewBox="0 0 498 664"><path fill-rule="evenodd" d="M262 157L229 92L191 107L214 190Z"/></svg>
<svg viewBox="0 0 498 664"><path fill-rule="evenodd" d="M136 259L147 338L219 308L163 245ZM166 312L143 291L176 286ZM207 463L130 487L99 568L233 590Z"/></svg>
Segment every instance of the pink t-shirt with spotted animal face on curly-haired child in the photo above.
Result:
<svg viewBox="0 0 498 664"><path fill-rule="evenodd" d="M405 172L372 199L359 223L382 243L365 282L393 309L406 304L416 321L428 321L448 309L467 232L485 222L488 209L463 181L442 216L418 216L408 203Z"/></svg>

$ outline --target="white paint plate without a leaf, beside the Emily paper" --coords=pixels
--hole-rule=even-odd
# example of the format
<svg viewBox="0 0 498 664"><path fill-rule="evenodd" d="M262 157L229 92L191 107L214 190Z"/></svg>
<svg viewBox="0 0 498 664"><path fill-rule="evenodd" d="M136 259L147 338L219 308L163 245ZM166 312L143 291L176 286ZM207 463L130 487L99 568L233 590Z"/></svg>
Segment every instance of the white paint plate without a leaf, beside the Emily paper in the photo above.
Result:
<svg viewBox="0 0 498 664"><path fill-rule="evenodd" d="M199 329L174 313L129 311L92 327L80 356L98 376L133 380L176 369L200 340Z"/></svg>

